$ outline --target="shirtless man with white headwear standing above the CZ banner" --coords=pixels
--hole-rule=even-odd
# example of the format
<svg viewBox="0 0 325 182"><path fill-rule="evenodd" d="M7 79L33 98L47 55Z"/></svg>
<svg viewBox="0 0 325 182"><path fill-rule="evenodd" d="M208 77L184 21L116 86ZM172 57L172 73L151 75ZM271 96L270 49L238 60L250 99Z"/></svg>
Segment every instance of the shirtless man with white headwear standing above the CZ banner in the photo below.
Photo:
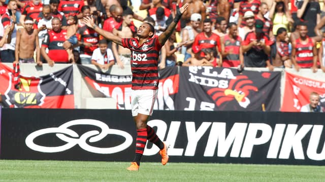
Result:
<svg viewBox="0 0 325 182"><path fill-rule="evenodd" d="M36 49L36 63L41 66L39 36L36 29L32 29L34 22L27 17L24 28L17 31L15 62L14 63L35 63L34 51Z"/></svg>

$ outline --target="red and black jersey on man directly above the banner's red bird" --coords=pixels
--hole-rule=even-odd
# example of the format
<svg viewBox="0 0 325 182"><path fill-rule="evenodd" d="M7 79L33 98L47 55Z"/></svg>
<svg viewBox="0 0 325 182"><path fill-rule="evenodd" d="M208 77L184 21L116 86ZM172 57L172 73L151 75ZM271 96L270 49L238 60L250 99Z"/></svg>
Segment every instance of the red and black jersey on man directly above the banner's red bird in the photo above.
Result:
<svg viewBox="0 0 325 182"><path fill-rule="evenodd" d="M239 36L237 36L236 40L232 40L229 37L229 34L224 35L223 37L224 51L230 52L230 50L232 50L233 52L231 54L228 54L222 60L222 67L237 67L240 64L239 49L240 49L241 42L242 40Z"/></svg>

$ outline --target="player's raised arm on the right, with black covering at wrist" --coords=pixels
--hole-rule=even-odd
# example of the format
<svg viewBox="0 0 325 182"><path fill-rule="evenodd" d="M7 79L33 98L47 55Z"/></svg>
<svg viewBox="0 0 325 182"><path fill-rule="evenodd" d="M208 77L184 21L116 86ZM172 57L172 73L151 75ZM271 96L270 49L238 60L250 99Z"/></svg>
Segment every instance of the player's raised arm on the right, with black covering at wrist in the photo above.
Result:
<svg viewBox="0 0 325 182"><path fill-rule="evenodd" d="M187 10L188 4L185 3L185 5L182 6L182 8L179 8L178 5L176 6L176 15L172 23L167 27L167 29L161 33L158 37L158 41L160 45L164 45L165 42L168 40L168 38L173 33L178 21L181 19L182 14Z"/></svg>

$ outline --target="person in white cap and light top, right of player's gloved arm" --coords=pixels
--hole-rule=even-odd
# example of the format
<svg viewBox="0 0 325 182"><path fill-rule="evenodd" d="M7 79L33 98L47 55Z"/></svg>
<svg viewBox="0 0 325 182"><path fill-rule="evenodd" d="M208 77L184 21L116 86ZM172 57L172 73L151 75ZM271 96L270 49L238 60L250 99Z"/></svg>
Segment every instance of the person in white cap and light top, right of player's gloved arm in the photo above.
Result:
<svg viewBox="0 0 325 182"><path fill-rule="evenodd" d="M194 42L194 38L200 33L200 24L202 17L198 13L194 13L191 15L190 24L186 25L181 31L182 42L185 43L182 46L182 54L185 56L184 61L188 58L192 57L192 44Z"/></svg>

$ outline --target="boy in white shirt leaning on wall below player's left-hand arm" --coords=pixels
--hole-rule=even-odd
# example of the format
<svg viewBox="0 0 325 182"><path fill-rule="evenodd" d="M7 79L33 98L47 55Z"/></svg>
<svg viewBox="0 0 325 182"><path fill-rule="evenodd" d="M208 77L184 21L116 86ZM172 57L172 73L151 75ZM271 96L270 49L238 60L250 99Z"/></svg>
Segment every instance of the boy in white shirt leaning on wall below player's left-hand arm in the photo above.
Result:
<svg viewBox="0 0 325 182"><path fill-rule="evenodd" d="M114 56L111 49L107 48L107 41L102 39L98 42L91 56L91 64L99 66L101 69L108 69L114 65Z"/></svg>

